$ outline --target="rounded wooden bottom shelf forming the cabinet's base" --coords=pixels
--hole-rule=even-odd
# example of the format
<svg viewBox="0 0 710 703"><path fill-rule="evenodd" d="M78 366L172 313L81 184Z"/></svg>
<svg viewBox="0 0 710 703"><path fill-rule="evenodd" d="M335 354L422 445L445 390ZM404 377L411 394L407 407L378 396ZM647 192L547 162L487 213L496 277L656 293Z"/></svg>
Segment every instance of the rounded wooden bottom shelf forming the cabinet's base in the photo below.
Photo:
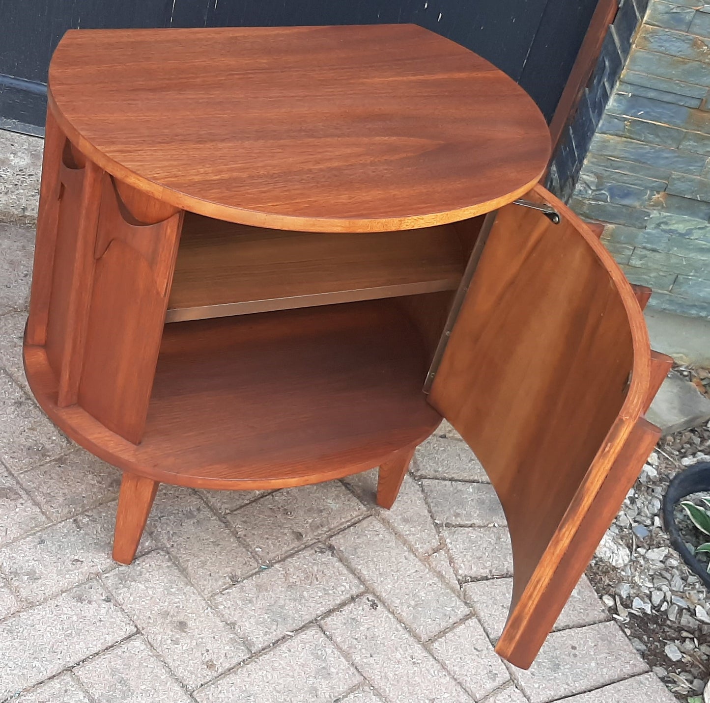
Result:
<svg viewBox="0 0 710 703"><path fill-rule="evenodd" d="M121 469L204 488L266 489L342 477L423 441L420 336L393 301L165 326L146 432L133 445L79 406L58 408L41 347L28 380L67 435Z"/></svg>

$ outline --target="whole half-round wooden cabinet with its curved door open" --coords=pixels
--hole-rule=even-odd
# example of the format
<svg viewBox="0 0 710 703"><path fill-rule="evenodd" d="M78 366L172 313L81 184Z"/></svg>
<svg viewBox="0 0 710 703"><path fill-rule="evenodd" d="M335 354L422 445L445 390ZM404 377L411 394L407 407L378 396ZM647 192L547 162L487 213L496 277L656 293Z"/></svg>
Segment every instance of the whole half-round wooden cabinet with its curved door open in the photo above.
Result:
<svg viewBox="0 0 710 703"><path fill-rule="evenodd" d="M160 482L378 466L391 507L446 418L506 511L498 652L530 665L657 438L668 361L535 184L528 96L415 26L72 32L49 87L25 363L124 471L114 558Z"/></svg>

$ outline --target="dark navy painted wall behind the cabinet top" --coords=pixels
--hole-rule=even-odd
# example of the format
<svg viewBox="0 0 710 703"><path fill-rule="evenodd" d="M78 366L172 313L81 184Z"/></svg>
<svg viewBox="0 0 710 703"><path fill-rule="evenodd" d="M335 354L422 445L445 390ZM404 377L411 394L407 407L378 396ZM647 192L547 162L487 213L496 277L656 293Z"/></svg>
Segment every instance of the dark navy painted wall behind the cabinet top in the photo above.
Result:
<svg viewBox="0 0 710 703"><path fill-rule="evenodd" d="M44 123L50 56L69 28L413 22L474 50L548 120L596 0L0 0L0 127Z"/></svg>

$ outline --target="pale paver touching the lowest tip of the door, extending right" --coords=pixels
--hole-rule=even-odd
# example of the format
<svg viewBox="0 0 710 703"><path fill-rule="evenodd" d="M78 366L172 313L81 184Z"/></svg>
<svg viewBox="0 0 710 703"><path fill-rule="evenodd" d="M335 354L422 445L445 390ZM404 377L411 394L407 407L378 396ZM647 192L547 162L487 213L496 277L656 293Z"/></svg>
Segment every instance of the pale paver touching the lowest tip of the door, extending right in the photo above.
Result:
<svg viewBox="0 0 710 703"><path fill-rule="evenodd" d="M547 703L647 671L618 626L603 622L553 632L530 669L513 670L513 678L531 703Z"/></svg>

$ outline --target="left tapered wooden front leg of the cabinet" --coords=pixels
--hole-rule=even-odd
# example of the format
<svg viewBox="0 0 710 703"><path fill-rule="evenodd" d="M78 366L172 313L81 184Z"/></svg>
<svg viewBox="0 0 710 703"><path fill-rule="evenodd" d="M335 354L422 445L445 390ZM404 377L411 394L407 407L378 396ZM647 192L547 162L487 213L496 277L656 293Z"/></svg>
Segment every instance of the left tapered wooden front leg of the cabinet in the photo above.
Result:
<svg viewBox="0 0 710 703"><path fill-rule="evenodd" d="M158 481L124 472L114 531L114 559L121 564L130 564L136 556L159 485Z"/></svg>

